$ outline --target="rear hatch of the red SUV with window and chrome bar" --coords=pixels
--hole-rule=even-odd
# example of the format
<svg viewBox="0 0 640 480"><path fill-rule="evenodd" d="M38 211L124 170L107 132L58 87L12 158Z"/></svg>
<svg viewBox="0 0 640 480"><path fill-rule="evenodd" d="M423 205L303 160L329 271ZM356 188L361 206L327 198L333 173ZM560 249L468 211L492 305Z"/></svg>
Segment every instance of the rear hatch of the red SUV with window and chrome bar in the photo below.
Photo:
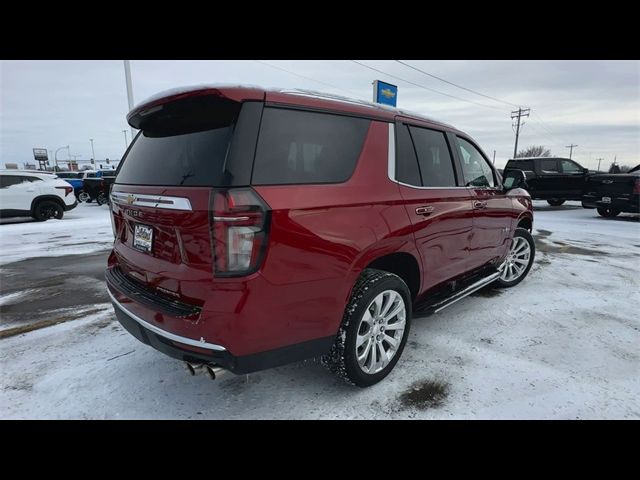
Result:
<svg viewBox="0 0 640 480"><path fill-rule="evenodd" d="M262 102L213 91L129 115L141 131L111 189L117 260L110 266L118 275L169 302L202 306L214 277L224 276L215 271L216 204L227 205L230 187L249 185L261 112ZM234 240L259 236L253 220Z"/></svg>

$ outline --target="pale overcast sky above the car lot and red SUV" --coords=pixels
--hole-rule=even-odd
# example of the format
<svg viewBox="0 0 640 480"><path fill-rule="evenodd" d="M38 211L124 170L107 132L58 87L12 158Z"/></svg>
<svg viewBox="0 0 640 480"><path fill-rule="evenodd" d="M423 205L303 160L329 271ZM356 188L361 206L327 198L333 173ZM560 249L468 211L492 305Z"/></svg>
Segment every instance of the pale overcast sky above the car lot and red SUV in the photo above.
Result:
<svg viewBox="0 0 640 480"><path fill-rule="evenodd" d="M520 147L542 144L554 155L597 167L640 163L640 62L403 60L460 86L530 107ZM513 154L514 107L478 96L391 60L131 61L134 103L158 91L199 83L306 88L370 100L373 80L398 85L398 107L450 123L474 137L496 165ZM287 73L281 69L289 70ZM306 78L303 78L306 77ZM416 85L405 82L413 82ZM454 99L432 90L459 97ZM475 103L471 103L475 102ZM477 105L477 104L482 104ZM489 108L490 107L490 108ZM33 160L32 148L70 145L79 159L119 159L128 111L121 60L1 61L0 167ZM58 159L68 158L60 150Z"/></svg>

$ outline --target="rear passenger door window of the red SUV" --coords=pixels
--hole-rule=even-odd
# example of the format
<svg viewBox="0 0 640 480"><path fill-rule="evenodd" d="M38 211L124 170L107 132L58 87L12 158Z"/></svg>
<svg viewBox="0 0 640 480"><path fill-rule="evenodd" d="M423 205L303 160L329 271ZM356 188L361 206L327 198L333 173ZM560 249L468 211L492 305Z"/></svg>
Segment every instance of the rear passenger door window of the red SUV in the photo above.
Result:
<svg viewBox="0 0 640 480"><path fill-rule="evenodd" d="M416 147L422 185L425 187L455 187L451 153L443 132L409 127Z"/></svg>

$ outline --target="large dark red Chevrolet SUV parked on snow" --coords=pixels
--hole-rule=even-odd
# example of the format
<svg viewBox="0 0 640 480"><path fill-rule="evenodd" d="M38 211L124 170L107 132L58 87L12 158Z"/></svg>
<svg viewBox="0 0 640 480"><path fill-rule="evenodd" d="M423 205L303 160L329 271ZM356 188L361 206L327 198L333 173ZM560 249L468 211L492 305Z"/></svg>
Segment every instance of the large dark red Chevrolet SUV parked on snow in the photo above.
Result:
<svg viewBox="0 0 640 480"><path fill-rule="evenodd" d="M197 87L127 116L106 280L140 341L193 373L322 357L359 386L412 309L531 268L531 199L455 128L306 91ZM506 186L505 186L506 185Z"/></svg>

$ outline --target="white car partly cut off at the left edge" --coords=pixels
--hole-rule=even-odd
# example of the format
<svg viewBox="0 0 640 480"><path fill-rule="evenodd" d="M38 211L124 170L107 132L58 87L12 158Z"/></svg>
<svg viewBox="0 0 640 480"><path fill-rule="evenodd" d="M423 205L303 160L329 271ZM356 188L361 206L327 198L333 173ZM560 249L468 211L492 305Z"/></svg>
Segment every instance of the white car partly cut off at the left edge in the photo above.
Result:
<svg viewBox="0 0 640 480"><path fill-rule="evenodd" d="M0 170L0 217L60 220L77 204L73 187L54 173Z"/></svg>

